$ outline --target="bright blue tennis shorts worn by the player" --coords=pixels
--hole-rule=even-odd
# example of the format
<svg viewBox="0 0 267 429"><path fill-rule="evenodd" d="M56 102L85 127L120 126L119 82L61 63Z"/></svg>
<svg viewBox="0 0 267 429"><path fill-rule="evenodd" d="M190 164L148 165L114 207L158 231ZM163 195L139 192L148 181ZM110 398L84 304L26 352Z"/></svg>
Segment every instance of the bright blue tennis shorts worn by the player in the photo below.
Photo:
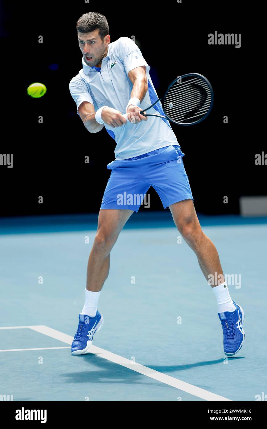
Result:
<svg viewBox="0 0 267 429"><path fill-rule="evenodd" d="M147 190L152 186L166 208L183 199L193 199L183 166L180 146L169 145L138 157L114 160L100 208L138 211L150 206Z"/></svg>

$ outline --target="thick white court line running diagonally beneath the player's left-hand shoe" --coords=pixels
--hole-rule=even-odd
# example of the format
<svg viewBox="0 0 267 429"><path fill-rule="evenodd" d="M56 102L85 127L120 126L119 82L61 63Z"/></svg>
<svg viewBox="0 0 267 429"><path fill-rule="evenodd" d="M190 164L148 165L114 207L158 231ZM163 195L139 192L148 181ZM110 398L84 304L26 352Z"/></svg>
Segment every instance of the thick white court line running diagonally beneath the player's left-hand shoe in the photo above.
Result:
<svg viewBox="0 0 267 429"><path fill-rule="evenodd" d="M17 328L18 326L14 326L14 329ZM72 344L73 341L73 337L71 335L64 334L63 332L49 328L45 325L24 326L24 328L33 329L33 331L48 335L51 338L55 338L67 344ZM7 328L2 329L13 329L13 327L9 326ZM132 371L139 372L140 374L146 375L147 377L153 378L154 380L161 381L164 384L168 384L168 386L176 387L179 390L183 390L183 392L190 393L191 395L197 396L201 399L205 399L206 401L232 402L231 399L227 399L224 396L216 395L216 393L209 392L208 390L201 389L200 387L186 383L185 381L179 380L178 378L174 378L170 375L163 374L162 372L155 371L155 369L148 368L147 366L141 365L140 363L133 363L132 360L126 359L125 357L119 356L115 353L111 353L110 351L104 350L100 347L92 345L90 347L89 353L96 354L97 356L102 357L106 360L117 363L118 365L131 369ZM75 357L79 359L79 356Z"/></svg>

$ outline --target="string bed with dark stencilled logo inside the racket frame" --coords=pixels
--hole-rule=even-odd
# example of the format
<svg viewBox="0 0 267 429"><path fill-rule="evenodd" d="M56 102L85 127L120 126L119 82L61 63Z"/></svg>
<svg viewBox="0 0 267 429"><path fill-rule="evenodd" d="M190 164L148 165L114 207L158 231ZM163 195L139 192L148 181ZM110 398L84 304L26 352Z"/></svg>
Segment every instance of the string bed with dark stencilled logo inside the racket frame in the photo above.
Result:
<svg viewBox="0 0 267 429"><path fill-rule="evenodd" d="M209 111L212 95L207 82L199 77L186 76L175 82L164 97L166 114L180 124L200 121Z"/></svg>

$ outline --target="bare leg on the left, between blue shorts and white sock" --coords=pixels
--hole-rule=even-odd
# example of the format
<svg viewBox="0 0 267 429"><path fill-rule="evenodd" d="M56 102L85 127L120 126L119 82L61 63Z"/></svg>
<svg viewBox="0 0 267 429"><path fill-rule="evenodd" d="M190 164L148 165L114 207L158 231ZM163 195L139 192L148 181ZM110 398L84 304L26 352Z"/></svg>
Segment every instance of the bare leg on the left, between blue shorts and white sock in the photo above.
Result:
<svg viewBox="0 0 267 429"><path fill-rule="evenodd" d="M98 228L87 265L86 289L99 292L108 278L110 252L132 210L100 209Z"/></svg>

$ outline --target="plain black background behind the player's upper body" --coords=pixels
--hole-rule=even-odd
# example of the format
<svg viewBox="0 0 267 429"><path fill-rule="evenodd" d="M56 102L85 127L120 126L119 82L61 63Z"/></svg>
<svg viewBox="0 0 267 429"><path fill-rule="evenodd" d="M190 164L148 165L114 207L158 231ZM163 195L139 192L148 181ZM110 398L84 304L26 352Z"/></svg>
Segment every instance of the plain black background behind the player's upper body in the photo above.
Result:
<svg viewBox="0 0 267 429"><path fill-rule="evenodd" d="M213 110L205 121L171 124L185 153L196 210L239 213L241 195L266 194L267 166L255 165L255 154L267 153L261 107L265 2L2 1L0 153L14 154L14 166L0 166L0 215L99 211L115 143L105 128L96 134L85 129L69 93L82 68L76 22L90 11L106 16L111 42L135 36L159 97L185 73L201 73L213 86ZM215 31L241 33L241 47L208 45ZM33 82L46 85L44 97L27 95ZM150 210L163 210L152 187L149 192Z"/></svg>

